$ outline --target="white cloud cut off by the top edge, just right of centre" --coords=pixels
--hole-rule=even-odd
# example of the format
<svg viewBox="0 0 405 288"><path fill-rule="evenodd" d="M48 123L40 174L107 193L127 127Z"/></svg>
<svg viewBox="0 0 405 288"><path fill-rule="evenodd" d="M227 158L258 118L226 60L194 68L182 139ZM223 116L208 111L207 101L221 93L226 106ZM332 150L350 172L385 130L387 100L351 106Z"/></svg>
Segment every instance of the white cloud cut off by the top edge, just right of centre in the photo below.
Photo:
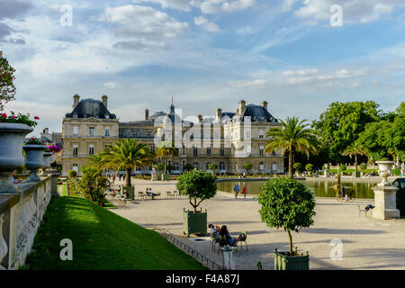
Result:
<svg viewBox="0 0 405 288"><path fill-rule="evenodd" d="M256 4L255 0L192 0L190 4L201 9L202 14L232 13L246 10Z"/></svg>

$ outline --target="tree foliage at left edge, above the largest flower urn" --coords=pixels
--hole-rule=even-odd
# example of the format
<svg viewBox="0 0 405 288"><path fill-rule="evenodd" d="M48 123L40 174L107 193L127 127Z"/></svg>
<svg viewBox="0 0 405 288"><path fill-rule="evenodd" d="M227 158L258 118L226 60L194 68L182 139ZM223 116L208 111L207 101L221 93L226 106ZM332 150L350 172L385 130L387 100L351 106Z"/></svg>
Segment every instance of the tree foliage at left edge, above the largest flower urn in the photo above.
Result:
<svg viewBox="0 0 405 288"><path fill-rule="evenodd" d="M11 67L3 52L0 51L0 111L4 110L4 103L14 100L16 88L13 84L15 69Z"/></svg>

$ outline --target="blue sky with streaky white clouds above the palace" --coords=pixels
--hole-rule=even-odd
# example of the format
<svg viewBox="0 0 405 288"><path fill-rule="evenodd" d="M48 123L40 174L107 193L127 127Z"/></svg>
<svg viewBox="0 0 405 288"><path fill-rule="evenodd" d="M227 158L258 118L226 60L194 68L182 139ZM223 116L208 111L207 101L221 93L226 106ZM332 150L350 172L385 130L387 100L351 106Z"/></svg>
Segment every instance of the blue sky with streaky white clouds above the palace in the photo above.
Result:
<svg viewBox="0 0 405 288"><path fill-rule="evenodd" d="M336 6L342 8L338 24ZM405 101L403 0L0 0L0 50L16 68L6 108L61 131L73 94L109 97L122 121L234 111L276 118L329 103ZM332 8L332 9L331 9ZM71 12L71 13L70 13ZM70 18L72 15L72 18Z"/></svg>

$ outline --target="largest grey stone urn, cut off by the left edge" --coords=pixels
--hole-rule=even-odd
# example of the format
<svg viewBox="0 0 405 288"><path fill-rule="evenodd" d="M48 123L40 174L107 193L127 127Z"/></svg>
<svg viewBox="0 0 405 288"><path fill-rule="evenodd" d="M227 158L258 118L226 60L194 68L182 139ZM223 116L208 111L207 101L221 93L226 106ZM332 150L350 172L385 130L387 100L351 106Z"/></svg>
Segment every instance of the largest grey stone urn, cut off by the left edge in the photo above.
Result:
<svg viewBox="0 0 405 288"><path fill-rule="evenodd" d="M31 131L23 123L0 122L0 193L17 191L11 175L24 164L23 140Z"/></svg>

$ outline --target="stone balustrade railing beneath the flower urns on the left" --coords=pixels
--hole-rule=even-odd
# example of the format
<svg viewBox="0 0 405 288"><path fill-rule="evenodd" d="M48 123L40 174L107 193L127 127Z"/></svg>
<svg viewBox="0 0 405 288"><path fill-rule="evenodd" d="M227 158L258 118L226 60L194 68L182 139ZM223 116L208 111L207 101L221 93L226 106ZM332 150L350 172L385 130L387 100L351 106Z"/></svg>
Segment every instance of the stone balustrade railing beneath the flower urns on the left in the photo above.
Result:
<svg viewBox="0 0 405 288"><path fill-rule="evenodd" d="M24 265L50 198L58 195L58 174L16 185L16 193L0 193L0 269Z"/></svg>

